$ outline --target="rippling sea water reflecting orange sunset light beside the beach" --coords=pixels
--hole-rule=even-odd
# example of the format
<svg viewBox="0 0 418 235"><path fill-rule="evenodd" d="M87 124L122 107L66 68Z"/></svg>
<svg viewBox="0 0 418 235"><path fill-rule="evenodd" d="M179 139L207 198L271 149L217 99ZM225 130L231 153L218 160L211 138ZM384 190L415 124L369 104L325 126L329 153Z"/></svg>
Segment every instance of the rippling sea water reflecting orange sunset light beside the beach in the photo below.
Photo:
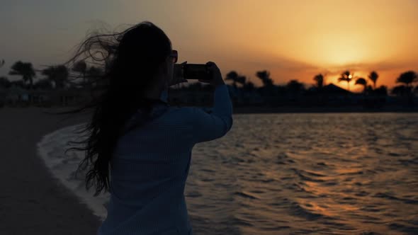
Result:
<svg viewBox="0 0 418 235"><path fill-rule="evenodd" d="M74 178L73 127L45 136L40 156L95 214ZM418 234L418 114L234 115L196 144L186 184L196 234Z"/></svg>

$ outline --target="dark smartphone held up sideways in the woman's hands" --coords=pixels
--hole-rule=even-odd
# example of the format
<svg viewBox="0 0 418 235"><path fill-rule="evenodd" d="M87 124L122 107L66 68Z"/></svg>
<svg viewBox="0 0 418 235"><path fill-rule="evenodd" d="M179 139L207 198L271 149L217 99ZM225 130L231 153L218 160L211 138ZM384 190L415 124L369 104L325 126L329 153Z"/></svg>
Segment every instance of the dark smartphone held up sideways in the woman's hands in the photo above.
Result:
<svg viewBox="0 0 418 235"><path fill-rule="evenodd" d="M211 80L212 72L207 64L187 64L187 62L181 64L174 64L174 74L181 76L183 79L201 79Z"/></svg>

